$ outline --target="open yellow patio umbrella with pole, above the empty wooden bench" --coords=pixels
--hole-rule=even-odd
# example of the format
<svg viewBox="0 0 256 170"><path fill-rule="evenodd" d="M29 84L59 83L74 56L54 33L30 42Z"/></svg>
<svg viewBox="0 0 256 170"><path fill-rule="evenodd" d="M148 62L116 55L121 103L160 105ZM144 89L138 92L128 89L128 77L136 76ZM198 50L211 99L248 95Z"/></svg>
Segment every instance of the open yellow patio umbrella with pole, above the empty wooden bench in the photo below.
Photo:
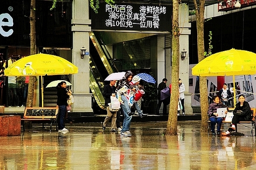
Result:
<svg viewBox="0 0 256 170"><path fill-rule="evenodd" d="M70 61L56 55L34 54L15 61L4 70L6 76L44 76L76 74L78 67ZM42 80L42 77L41 77ZM41 81L42 107L43 102L43 81Z"/></svg>

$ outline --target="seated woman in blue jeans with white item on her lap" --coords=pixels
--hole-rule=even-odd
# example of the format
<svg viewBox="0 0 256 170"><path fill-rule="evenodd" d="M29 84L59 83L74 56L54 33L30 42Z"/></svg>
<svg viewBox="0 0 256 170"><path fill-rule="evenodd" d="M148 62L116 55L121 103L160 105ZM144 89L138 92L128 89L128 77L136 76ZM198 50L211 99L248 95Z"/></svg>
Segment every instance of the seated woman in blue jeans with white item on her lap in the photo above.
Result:
<svg viewBox="0 0 256 170"><path fill-rule="evenodd" d="M208 109L208 116L210 117L211 121L211 132L213 135L216 135L215 133L215 125L217 123L217 134L220 134L220 128L222 127L222 117L217 117L217 109L218 108L227 108L226 105L222 104L220 102L219 96L213 96L212 97L213 103L209 105ZM225 114L227 114L227 110L225 111Z"/></svg>

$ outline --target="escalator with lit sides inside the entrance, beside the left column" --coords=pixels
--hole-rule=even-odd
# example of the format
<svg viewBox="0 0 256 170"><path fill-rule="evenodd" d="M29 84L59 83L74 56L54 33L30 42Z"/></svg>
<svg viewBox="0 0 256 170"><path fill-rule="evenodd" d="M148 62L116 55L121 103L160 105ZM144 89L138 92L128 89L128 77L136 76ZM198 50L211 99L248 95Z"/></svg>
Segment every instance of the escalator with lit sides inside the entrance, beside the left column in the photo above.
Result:
<svg viewBox="0 0 256 170"><path fill-rule="evenodd" d="M98 33L90 32L90 89L95 102L101 109L105 108L105 98L103 97L104 79L111 73L117 72L117 68L108 53L104 42Z"/></svg>

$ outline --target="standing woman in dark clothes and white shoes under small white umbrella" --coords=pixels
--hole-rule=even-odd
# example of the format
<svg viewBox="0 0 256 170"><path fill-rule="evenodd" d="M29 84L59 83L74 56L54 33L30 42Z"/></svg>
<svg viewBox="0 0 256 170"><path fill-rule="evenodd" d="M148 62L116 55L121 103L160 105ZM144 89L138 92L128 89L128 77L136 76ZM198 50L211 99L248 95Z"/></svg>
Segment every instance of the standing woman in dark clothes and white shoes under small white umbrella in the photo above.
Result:
<svg viewBox="0 0 256 170"><path fill-rule="evenodd" d="M67 111L67 99L71 95L71 91L66 90L67 84L65 81L61 81L58 83L57 88L57 107L59 108L59 114L57 118L58 122L58 132L65 132L68 131L65 128L65 114Z"/></svg>

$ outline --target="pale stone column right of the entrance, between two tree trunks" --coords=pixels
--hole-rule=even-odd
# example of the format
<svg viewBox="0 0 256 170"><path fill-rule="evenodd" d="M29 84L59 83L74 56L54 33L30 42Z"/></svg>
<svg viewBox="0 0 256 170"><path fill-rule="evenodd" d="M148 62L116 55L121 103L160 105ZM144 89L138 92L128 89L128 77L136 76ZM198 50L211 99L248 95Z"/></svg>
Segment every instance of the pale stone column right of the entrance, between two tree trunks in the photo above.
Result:
<svg viewBox="0 0 256 170"><path fill-rule="evenodd" d="M179 58L179 78L182 79L182 83L185 85L185 114L191 115L193 110L191 108L191 93L189 93L189 35L191 31L189 28L191 24L189 23L189 7L186 4L179 5L179 26L181 36L179 36L179 52L183 49L186 51L186 58L181 60Z"/></svg>

